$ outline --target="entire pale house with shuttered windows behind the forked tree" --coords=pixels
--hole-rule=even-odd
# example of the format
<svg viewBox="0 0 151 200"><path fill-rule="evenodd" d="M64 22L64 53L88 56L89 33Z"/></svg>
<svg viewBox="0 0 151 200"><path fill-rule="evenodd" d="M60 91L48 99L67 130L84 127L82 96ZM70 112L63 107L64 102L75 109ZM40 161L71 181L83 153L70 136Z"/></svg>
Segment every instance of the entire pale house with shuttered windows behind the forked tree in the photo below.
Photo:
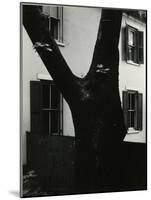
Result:
<svg viewBox="0 0 151 200"><path fill-rule="evenodd" d="M43 6L48 27L72 72L89 70L101 8ZM124 141L146 143L146 23L144 12L123 13L119 41L119 89L127 135ZM70 109L55 87L22 27L23 163L26 133L74 136ZM70 87L70 86L69 86ZM40 99L37 101L37 99Z"/></svg>

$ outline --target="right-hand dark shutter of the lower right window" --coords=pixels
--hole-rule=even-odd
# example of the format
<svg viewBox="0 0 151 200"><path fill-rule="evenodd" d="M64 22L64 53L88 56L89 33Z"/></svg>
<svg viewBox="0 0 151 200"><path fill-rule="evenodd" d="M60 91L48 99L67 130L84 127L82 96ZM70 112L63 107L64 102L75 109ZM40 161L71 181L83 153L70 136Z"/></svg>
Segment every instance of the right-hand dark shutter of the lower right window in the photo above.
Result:
<svg viewBox="0 0 151 200"><path fill-rule="evenodd" d="M137 130L142 130L142 111L143 111L143 95L141 93L138 93L138 100L137 100Z"/></svg>

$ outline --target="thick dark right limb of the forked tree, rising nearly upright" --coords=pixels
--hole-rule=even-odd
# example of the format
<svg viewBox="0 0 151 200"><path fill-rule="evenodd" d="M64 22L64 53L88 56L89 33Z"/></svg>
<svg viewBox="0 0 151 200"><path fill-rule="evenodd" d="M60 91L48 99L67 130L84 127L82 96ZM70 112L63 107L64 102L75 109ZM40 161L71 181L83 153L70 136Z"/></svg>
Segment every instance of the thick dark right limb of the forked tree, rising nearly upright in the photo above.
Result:
<svg viewBox="0 0 151 200"><path fill-rule="evenodd" d="M97 40L90 71L94 68L112 69L119 64L118 42L122 11L102 9Z"/></svg>

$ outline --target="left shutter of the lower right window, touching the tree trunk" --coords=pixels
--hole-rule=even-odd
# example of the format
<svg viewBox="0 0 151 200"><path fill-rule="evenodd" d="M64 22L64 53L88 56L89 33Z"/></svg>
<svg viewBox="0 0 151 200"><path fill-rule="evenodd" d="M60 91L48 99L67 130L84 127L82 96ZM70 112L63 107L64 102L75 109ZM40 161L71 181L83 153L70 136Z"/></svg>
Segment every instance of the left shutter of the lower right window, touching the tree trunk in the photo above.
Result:
<svg viewBox="0 0 151 200"><path fill-rule="evenodd" d="M128 129L128 92L123 91L123 113L124 113L124 123L126 129Z"/></svg>

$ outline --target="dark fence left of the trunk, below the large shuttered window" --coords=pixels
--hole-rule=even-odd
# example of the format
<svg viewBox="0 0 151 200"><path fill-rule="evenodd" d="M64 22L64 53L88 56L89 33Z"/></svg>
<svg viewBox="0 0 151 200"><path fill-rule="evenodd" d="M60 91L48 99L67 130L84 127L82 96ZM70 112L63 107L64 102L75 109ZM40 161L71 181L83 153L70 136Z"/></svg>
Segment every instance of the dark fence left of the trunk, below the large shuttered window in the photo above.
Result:
<svg viewBox="0 0 151 200"><path fill-rule="evenodd" d="M74 180L74 138L28 133L27 163L29 169L47 179L52 191L71 191Z"/></svg>

